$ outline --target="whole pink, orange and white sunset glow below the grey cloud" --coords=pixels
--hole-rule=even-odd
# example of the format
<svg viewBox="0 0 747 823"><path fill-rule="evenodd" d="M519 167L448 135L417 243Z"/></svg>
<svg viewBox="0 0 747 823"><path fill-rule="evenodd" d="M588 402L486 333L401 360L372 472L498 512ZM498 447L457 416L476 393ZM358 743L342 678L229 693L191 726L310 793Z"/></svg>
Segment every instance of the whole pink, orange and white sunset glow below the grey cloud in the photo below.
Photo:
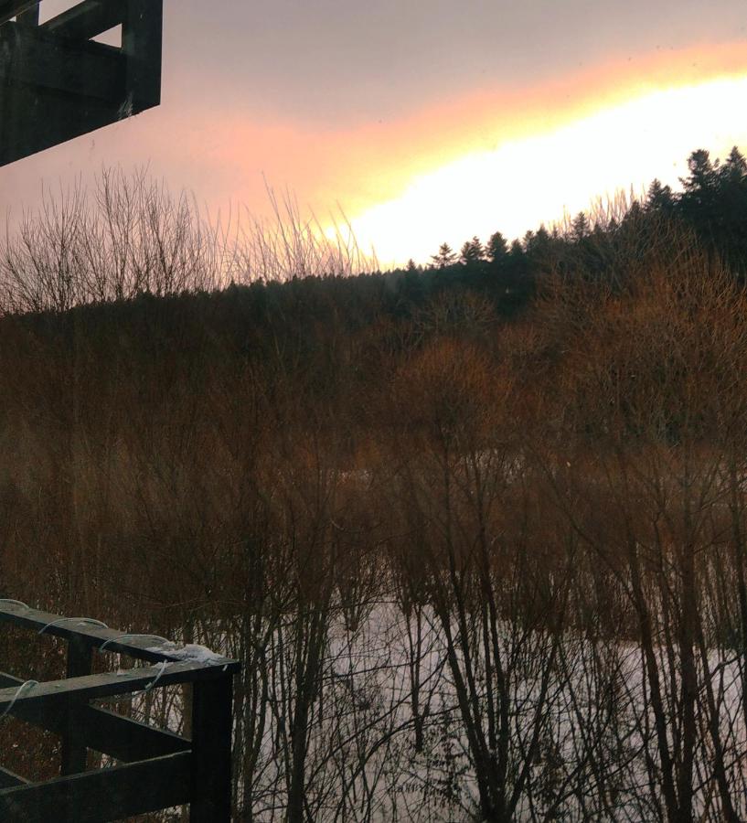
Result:
<svg viewBox="0 0 747 823"><path fill-rule="evenodd" d="M160 109L2 169L0 214L33 208L41 181L65 187L101 166L147 163L224 220L237 205L266 217L265 181L287 187L323 229L338 205L360 250L385 268L428 262L444 241L458 250L496 230L522 237L654 177L677 187L698 148L747 153L747 44L621 53L550 79L475 80L381 119L258 111L239 95L195 91L175 69Z"/></svg>

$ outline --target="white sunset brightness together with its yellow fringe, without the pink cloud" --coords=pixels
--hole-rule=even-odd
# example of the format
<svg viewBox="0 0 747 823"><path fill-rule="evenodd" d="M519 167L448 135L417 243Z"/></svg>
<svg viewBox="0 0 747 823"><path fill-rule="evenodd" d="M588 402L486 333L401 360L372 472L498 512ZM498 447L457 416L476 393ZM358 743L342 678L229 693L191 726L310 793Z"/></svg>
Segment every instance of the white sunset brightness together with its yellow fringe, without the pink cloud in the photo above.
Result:
<svg viewBox="0 0 747 823"><path fill-rule="evenodd" d="M652 61L644 77L621 82L607 71L586 88L576 80L539 90L534 100L517 101L521 112L496 105L493 123L485 106L472 118L454 112L454 126L426 139L422 156L382 165L369 184L378 202L347 211L359 246L373 247L382 266L427 262L443 241L458 249L475 234L520 237L597 197L631 187L638 194L654 177L677 186L696 148L720 156L734 144L747 149L743 47L720 48L710 59L678 57ZM744 65L725 70L730 58Z"/></svg>

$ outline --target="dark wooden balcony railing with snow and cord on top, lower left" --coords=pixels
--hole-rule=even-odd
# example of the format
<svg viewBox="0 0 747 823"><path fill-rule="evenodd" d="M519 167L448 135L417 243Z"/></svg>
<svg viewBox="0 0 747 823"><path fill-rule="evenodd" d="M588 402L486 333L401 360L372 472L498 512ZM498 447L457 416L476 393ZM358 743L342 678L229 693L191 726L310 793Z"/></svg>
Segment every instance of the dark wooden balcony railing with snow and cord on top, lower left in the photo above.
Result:
<svg viewBox="0 0 747 823"><path fill-rule="evenodd" d="M237 661L189 660L176 650L169 653L170 646L154 651L153 638L123 635L22 604L0 602L0 623L43 630L68 643L67 679L24 689L23 680L0 672L0 717L8 713L59 734L62 743L61 776L47 783L29 783L0 767L0 820L105 823L189 804L193 823L229 823ZM91 674L97 649L155 665ZM91 704L183 683L192 689L191 739ZM117 764L86 771L88 749L110 755Z"/></svg>

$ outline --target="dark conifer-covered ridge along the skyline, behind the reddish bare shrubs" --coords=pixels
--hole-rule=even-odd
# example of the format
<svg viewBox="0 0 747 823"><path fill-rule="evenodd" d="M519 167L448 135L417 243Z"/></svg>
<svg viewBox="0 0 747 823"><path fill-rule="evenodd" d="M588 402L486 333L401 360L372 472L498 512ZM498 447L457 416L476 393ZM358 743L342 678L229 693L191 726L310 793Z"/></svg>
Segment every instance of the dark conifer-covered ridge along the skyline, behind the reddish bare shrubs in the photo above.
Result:
<svg viewBox="0 0 747 823"><path fill-rule="evenodd" d="M614 283L627 262L666 242L673 233L696 238L706 251L724 262L731 273L742 278L747 273L747 161L744 156L734 147L721 162L713 160L705 150L695 151L688 158L688 176L681 182L682 190L675 192L655 180L643 201L634 200L613 215L589 216L582 212L565 230L547 230L541 226L510 243L496 231L485 243L477 237L465 241L459 252L444 243L432 255L430 264L410 262L404 269L385 273L343 276L320 271L284 281L257 279L218 288L202 273L200 265L204 265L204 261L187 260L184 251L176 248L178 237L171 237L171 247L166 250L171 260L163 265L178 269L179 277L171 271L172 281L155 288L133 288L132 294L125 291L118 299L106 296L118 294L116 290L102 290L104 297L98 300L86 296L88 292L75 296L75 289L69 283L75 280L79 251L66 251L73 260L66 260L64 266L54 259L41 265L35 260L38 271L29 273L20 271L24 268L24 259L22 256L18 259L17 251L8 246L0 259L5 294L10 295L3 308L5 315L32 315L25 322L34 326L47 317L47 321L41 321L42 325L51 322L59 330L72 327L73 320L80 327L80 319L85 318L87 327L104 327L112 322L138 327L148 324L151 335L168 337L170 326L178 327L181 336L187 324L191 334L197 334L197 327L201 334L208 334L207 329L212 327L210 334L230 337L232 345L248 345L247 341L252 339L260 339L264 345L267 335L271 334L273 345L278 345L280 336L286 343L294 340L302 347L313 347L320 335L324 337L333 328L337 332L354 331L383 319L422 320L422 313L431 311L429 306L434 299L449 303L450 297L460 294L469 294L475 300L467 301L467 308L464 301L457 301L461 306L458 313L464 316L454 316L457 311L454 308L443 309L442 322L468 324L471 314L479 315L486 305L494 318L510 319L526 309L551 275ZM164 206L164 203L148 204L148 208ZM70 217L74 222L76 215ZM162 216L150 215L149 219L155 226ZM36 235L34 230L38 231ZM31 242L40 240L44 231L48 229L32 227ZM180 236L186 236L183 229L179 231ZM85 230L78 233L84 234ZM74 226L70 235L75 235ZM46 236L44 240L38 243L37 254L54 257L52 252L57 251L56 244L61 240L58 236ZM111 248L92 249L95 241L95 238L85 240L86 255L90 259L80 263L81 266L91 266L96 255L112 257ZM195 241L191 235L189 242ZM199 238L197 241L209 242ZM189 253L194 255L194 251ZM199 254L209 257L204 249ZM52 271L56 265L60 271ZM105 268L107 272L116 272L124 266L124 261L108 259ZM35 277L37 282L32 283ZM69 320L60 323L60 312L64 314L71 308L75 310ZM56 317L54 321L52 316ZM479 324L479 317L476 322ZM155 329L154 324L159 327Z"/></svg>

